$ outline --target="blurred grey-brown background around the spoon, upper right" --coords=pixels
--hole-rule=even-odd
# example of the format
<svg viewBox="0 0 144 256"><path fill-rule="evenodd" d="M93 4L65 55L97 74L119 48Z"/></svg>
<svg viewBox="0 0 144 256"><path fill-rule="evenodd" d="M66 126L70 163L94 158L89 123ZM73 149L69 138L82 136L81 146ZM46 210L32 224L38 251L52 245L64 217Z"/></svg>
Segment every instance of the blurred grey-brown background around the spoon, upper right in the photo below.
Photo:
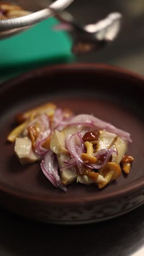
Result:
<svg viewBox="0 0 144 256"><path fill-rule="evenodd" d="M112 11L123 15L123 27L109 47L78 57L78 61L102 62L144 74L144 0L75 0L68 8L82 24L95 22Z"/></svg>

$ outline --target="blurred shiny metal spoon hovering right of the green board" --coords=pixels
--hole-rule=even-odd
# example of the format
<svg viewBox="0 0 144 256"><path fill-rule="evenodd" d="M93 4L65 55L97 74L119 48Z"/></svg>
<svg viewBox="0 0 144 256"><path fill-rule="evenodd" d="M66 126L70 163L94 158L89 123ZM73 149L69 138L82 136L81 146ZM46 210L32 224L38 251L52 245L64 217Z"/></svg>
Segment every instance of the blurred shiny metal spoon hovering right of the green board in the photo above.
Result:
<svg viewBox="0 0 144 256"><path fill-rule="evenodd" d="M67 30L73 36L73 52L75 54L89 53L96 51L112 42L121 29L122 15L111 13L105 19L95 24L80 26L69 13L64 11L57 15L59 21L56 30Z"/></svg>

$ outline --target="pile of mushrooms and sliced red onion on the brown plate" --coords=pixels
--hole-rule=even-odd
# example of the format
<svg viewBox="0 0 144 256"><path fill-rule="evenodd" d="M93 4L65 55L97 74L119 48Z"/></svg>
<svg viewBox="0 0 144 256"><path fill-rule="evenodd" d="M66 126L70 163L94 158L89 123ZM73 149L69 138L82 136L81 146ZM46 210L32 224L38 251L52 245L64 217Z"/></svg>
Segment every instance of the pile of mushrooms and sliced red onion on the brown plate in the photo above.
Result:
<svg viewBox="0 0 144 256"><path fill-rule="evenodd" d="M99 189L130 172L127 155L130 134L93 115L59 109L53 103L16 116L19 125L9 133L22 165L41 161L41 170L55 187L79 182Z"/></svg>

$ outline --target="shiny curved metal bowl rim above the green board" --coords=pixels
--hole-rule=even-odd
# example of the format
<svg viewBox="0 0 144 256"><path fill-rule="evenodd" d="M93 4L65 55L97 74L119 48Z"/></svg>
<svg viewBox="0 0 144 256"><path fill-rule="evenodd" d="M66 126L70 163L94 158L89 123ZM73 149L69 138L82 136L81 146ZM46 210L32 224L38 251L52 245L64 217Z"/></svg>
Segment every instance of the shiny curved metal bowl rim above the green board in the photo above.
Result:
<svg viewBox="0 0 144 256"><path fill-rule="evenodd" d="M19 18L0 20L0 38L5 38L15 33L20 33L22 32L23 29L26 30L29 26L37 24L40 21L43 21L47 18L50 18L51 16L56 15L57 13L67 8L68 5L71 4L73 1L74 0L57 0L51 3L49 6L47 6L46 1L42 0L40 1L41 4L39 4L39 8L41 9L38 11L35 11L26 16L21 16ZM32 2L34 4L36 1L26 1L26 3L27 2L31 2L32 5ZM16 4L18 3L23 3L21 6L25 7L25 1L16 1ZM46 8L42 8L44 6Z"/></svg>

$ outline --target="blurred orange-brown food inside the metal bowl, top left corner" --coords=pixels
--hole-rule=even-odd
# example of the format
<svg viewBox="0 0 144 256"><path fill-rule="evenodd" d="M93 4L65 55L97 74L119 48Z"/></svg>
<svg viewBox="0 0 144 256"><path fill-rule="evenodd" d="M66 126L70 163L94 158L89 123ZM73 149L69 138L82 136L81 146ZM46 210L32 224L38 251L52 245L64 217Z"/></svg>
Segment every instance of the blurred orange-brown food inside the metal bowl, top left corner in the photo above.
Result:
<svg viewBox="0 0 144 256"><path fill-rule="evenodd" d="M0 1L0 20L17 18L30 14L18 5Z"/></svg>

